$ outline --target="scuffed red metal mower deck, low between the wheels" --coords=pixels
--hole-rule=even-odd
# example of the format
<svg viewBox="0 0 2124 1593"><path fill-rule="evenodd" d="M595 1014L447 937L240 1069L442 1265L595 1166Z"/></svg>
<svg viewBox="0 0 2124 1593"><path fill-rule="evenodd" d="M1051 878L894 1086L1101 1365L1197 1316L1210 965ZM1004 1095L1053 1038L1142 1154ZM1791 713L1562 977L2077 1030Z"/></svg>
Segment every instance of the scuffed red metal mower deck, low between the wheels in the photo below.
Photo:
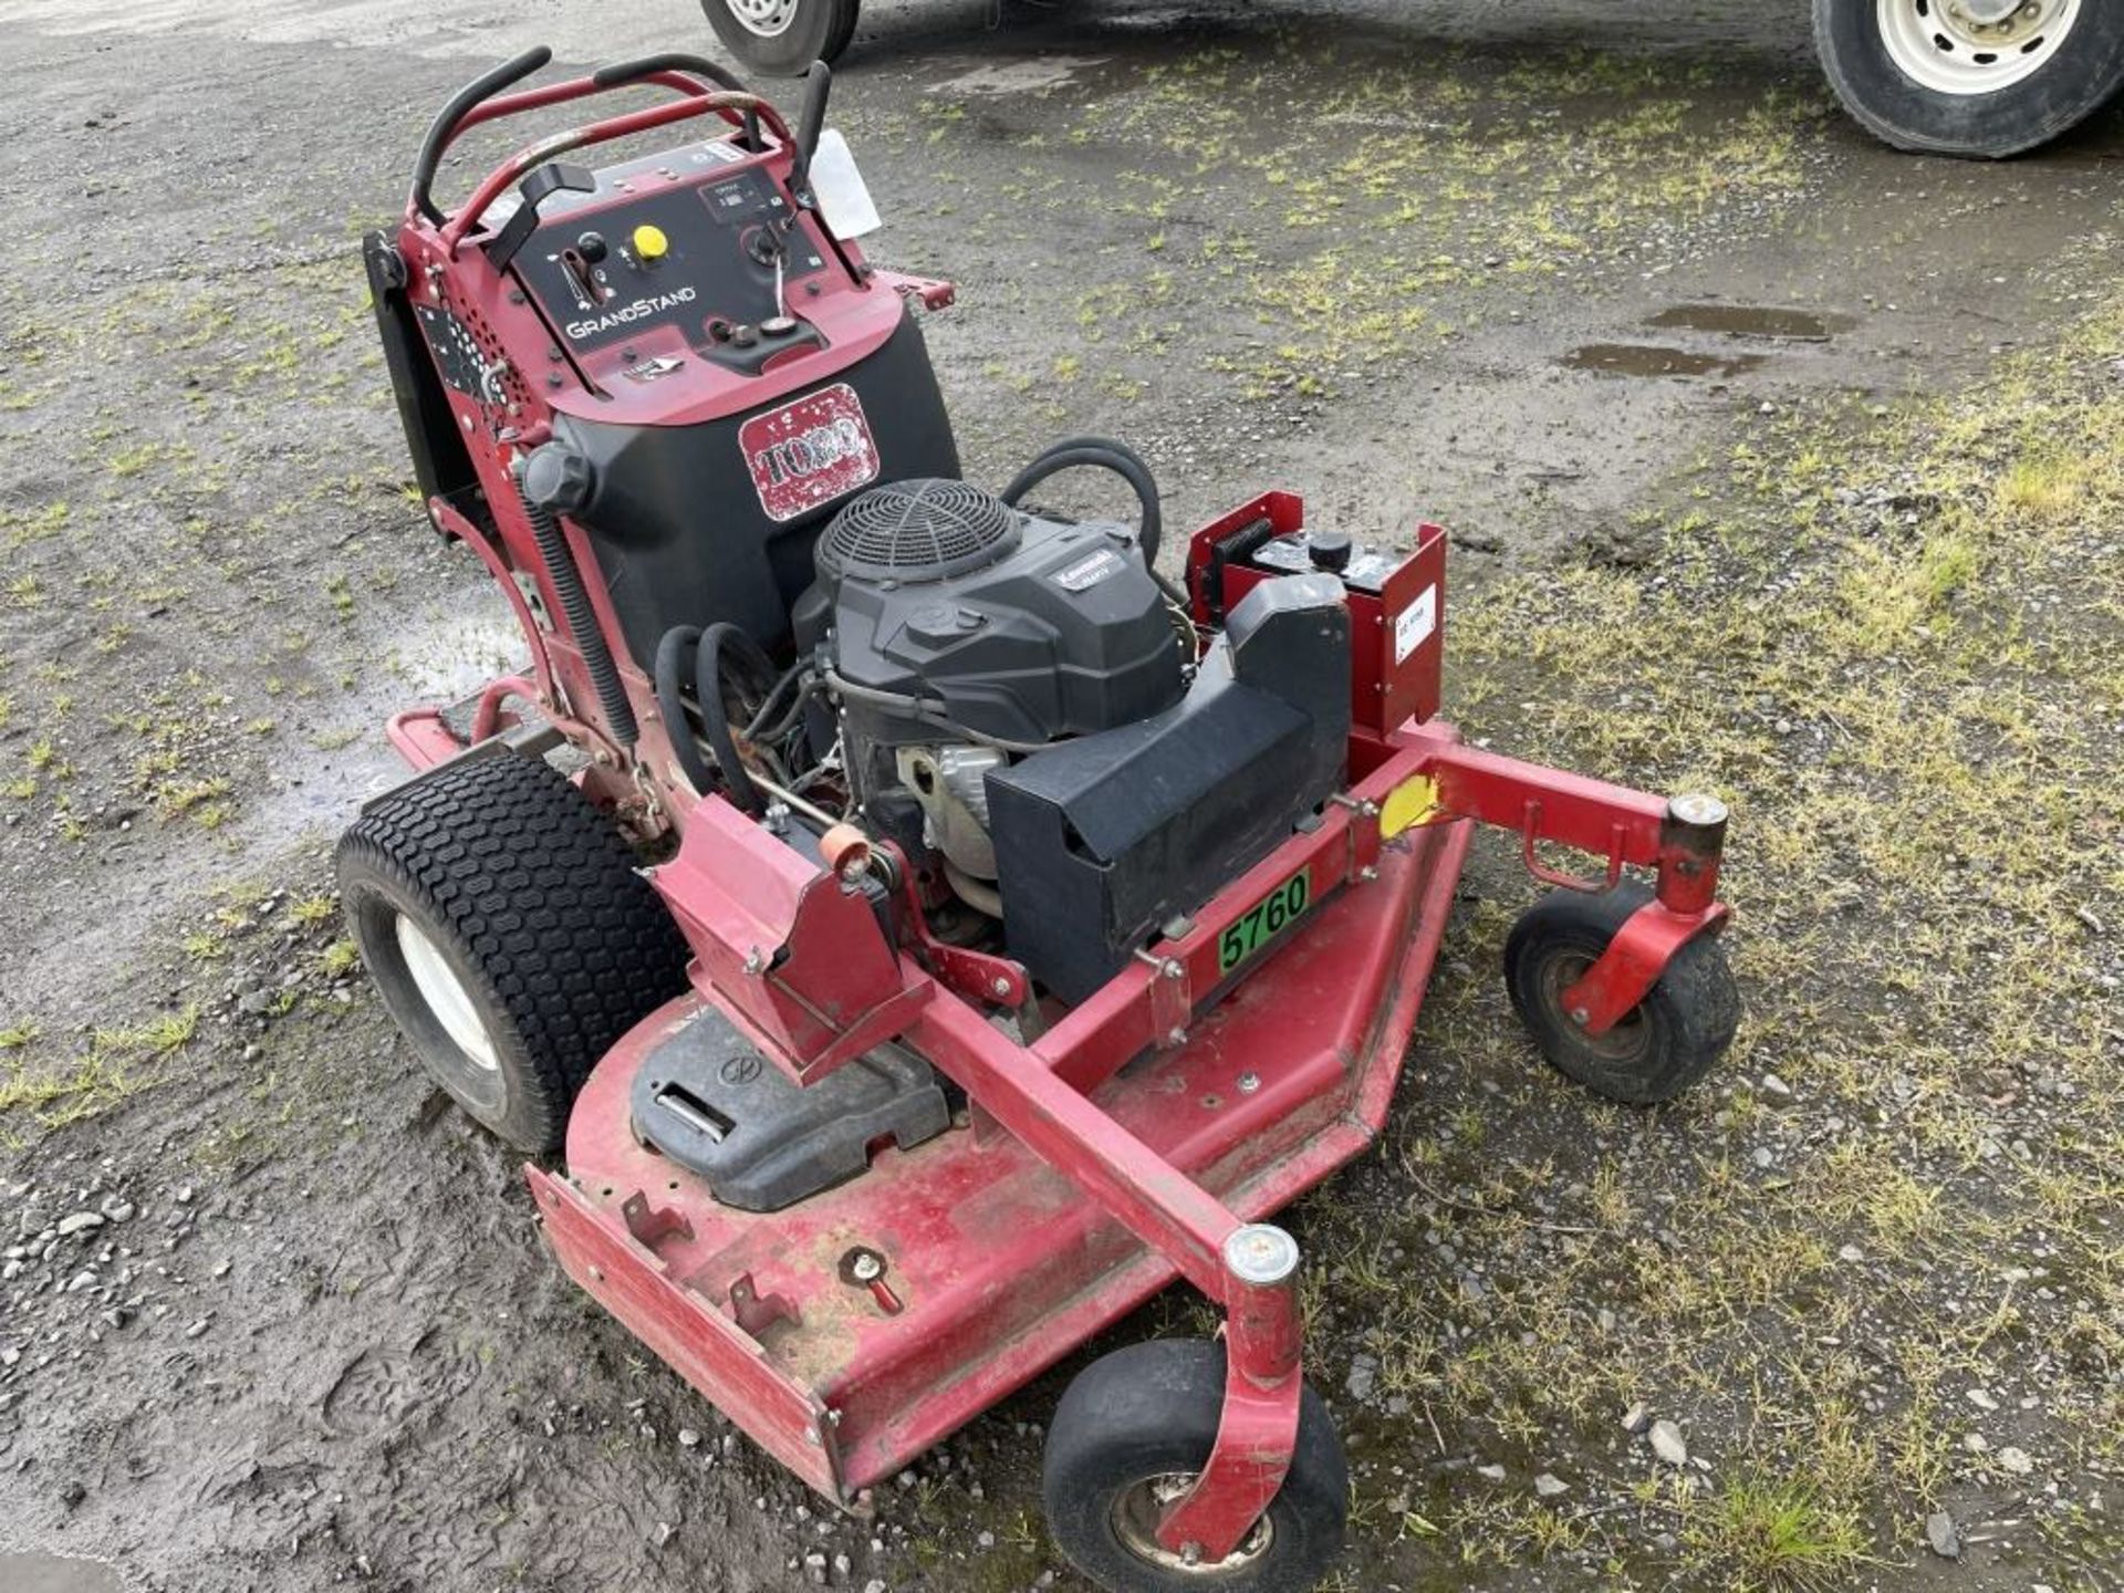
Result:
<svg viewBox="0 0 2124 1593"><path fill-rule="evenodd" d="M1412 830L1185 1045L1090 1100L1247 1221L1359 1155L1385 1121L1470 830ZM854 1502L1179 1277L979 1109L794 1209L718 1204L629 1126L635 1070L701 1005L675 1000L614 1047L569 1121L567 1177L527 1177L569 1277L822 1493Z"/></svg>

